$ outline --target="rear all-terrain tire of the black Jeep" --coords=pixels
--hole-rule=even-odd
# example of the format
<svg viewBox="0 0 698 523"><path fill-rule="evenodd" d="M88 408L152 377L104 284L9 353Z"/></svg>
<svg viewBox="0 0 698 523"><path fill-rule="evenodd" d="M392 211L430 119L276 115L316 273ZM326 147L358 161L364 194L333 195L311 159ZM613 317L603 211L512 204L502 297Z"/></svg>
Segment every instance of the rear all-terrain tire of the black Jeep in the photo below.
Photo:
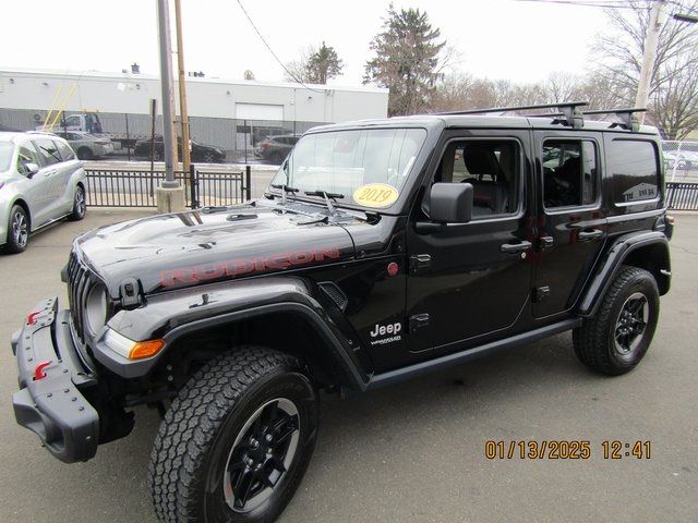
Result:
<svg viewBox="0 0 698 523"><path fill-rule="evenodd" d="M647 318L642 321L641 333L634 338L631 346L625 348L616 340L616 335L618 329L636 325L631 317L623 324L623 314L630 300L645 301ZM654 277L645 269L623 266L595 315L573 330L575 354L585 365L610 376L633 370L650 346L658 318L659 290Z"/></svg>

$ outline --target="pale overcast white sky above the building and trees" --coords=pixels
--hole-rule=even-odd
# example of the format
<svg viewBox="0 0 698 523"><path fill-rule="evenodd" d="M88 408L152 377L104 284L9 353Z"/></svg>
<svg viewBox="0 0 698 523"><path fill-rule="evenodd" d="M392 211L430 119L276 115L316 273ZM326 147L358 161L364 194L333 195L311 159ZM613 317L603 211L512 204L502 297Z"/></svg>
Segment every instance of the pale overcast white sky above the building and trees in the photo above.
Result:
<svg viewBox="0 0 698 523"><path fill-rule="evenodd" d="M359 85L369 44L380 32L388 0L240 0L281 62L310 45L334 46L346 68L336 85ZM184 58L206 76L284 80L236 0L181 0ZM601 9L515 0L395 0L419 8L459 54L457 69L515 82L552 72L580 74L589 46L604 27ZM170 11L173 16L173 3ZM26 13L32 13L27 16ZM22 0L3 5L0 69L119 72L132 62L158 74L156 0ZM28 25L27 25L28 24ZM172 23L172 35L174 25Z"/></svg>

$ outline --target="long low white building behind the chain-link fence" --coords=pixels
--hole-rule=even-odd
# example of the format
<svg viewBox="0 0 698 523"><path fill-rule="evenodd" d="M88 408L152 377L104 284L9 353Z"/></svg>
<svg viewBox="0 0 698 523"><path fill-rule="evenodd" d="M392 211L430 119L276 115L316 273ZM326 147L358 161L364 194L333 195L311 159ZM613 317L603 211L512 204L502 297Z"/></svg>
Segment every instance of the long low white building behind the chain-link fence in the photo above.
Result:
<svg viewBox="0 0 698 523"><path fill-rule="evenodd" d="M0 69L0 124L7 127L34 129L49 111L88 111L99 113L105 132L123 133L128 114L132 134L148 134L151 99L161 114L159 76ZM258 137L255 130L298 134L321 123L385 118L388 89L189 76L186 99L194 138L239 150Z"/></svg>

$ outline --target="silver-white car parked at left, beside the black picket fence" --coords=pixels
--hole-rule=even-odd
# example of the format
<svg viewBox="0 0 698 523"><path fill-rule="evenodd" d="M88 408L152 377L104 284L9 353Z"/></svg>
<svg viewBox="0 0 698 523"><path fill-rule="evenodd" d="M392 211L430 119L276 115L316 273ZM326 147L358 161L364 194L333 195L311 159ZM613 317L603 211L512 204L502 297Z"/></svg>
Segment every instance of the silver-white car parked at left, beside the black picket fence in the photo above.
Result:
<svg viewBox="0 0 698 523"><path fill-rule="evenodd" d="M26 248L29 232L85 216L87 180L68 143L43 133L0 133L0 245Z"/></svg>

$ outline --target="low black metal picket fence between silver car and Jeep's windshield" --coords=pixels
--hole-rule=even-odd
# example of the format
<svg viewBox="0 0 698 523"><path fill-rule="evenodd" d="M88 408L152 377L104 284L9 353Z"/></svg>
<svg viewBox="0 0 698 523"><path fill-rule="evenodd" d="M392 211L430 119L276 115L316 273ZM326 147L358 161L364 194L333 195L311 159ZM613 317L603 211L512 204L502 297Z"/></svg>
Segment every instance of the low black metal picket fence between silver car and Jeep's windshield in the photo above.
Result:
<svg viewBox="0 0 698 523"><path fill-rule="evenodd" d="M92 207L157 207L157 187L164 171L86 169L87 205ZM185 187L186 207L240 204L252 197L250 166L244 171L177 171Z"/></svg>

